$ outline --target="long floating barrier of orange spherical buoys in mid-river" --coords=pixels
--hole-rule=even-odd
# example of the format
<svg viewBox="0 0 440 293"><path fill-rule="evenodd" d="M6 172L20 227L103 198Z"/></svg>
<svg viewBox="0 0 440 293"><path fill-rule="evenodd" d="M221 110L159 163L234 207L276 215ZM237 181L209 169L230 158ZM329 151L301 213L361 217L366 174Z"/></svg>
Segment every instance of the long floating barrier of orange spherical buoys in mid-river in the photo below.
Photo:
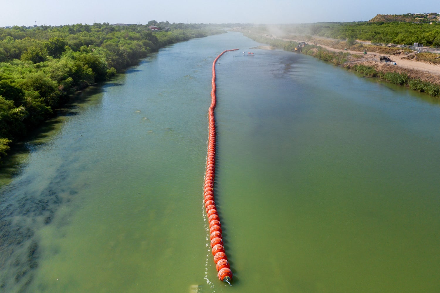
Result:
<svg viewBox="0 0 440 293"><path fill-rule="evenodd" d="M208 109L208 154L206 155L206 173L205 184L203 184L203 198L206 215L209 221L209 238L211 241L214 262L218 271L217 277L231 285L232 271L227 261L226 253L223 246L223 236L220 224L220 217L217 213L216 203L214 201L214 176L216 162L216 122L214 119L214 108L216 107L216 63L221 55L228 51L236 51L238 49L225 50L221 52L213 62L213 79L211 81L211 105ZM232 286L232 285L231 285Z"/></svg>

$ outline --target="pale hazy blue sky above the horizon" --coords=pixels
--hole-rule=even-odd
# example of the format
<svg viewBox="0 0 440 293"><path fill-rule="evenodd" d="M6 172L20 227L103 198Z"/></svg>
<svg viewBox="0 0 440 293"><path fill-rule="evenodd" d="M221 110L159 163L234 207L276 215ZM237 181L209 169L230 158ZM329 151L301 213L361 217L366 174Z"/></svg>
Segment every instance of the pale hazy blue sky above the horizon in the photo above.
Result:
<svg viewBox="0 0 440 293"><path fill-rule="evenodd" d="M397 4L398 3L398 4ZM310 23L366 21L376 14L439 12L438 0L0 0L0 27L93 24Z"/></svg>

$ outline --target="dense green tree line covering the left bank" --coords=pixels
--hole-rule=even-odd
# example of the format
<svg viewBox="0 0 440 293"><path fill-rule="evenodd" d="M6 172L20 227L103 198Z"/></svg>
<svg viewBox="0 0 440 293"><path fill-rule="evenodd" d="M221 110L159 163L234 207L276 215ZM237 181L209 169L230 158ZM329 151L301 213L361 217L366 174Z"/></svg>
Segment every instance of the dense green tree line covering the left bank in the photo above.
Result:
<svg viewBox="0 0 440 293"><path fill-rule="evenodd" d="M0 156L75 91L110 79L159 48L222 32L213 25L155 20L0 28Z"/></svg>

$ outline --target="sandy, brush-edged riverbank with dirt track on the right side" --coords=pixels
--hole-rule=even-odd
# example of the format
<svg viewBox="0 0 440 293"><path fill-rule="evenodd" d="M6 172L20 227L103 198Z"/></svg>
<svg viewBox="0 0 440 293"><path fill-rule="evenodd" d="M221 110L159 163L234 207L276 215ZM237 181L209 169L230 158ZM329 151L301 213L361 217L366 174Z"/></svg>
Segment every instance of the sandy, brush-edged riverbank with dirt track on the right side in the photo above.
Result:
<svg viewBox="0 0 440 293"><path fill-rule="evenodd" d="M278 37L267 34L256 34L251 31L242 32L245 36L252 38L258 42L267 43L273 47L279 47L286 51L294 51L298 43L304 40L296 40L295 38L286 38L286 36ZM411 57L413 52L408 50L397 50L393 48L388 50L392 55L380 53L378 46L359 45L362 51L345 50L334 48L320 44L322 42L341 47L343 44L337 40L320 40L310 38L305 47L301 48L301 53L327 61L333 65L345 67L359 71L359 65L363 65L362 69L368 68L368 71L374 72L369 77L378 77L391 83L409 87L411 90L425 92L435 98L440 97L440 65L432 63L416 61L417 58ZM376 51L371 52L370 49ZM353 49L351 47L350 49ZM367 50L365 54L363 50ZM389 56L391 62L381 61L381 57ZM362 70L361 70L362 72Z"/></svg>

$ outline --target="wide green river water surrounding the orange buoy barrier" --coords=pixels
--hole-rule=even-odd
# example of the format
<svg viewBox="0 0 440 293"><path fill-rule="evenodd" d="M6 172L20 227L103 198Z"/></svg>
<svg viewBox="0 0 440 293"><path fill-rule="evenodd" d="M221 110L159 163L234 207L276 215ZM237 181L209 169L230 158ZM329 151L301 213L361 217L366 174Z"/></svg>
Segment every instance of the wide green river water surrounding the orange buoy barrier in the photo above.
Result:
<svg viewBox="0 0 440 293"><path fill-rule="evenodd" d="M8 158L0 292L440 292L439 103L258 45L166 47ZM211 66L233 48L215 112L230 287L203 181Z"/></svg>

